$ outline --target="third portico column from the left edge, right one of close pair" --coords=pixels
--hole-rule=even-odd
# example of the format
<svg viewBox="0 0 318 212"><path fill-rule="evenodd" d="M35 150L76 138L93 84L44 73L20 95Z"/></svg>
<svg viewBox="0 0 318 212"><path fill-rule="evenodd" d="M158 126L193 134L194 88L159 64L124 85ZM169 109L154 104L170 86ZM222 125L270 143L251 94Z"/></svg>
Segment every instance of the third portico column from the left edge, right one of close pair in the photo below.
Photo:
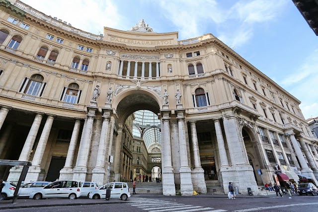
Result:
<svg viewBox="0 0 318 212"><path fill-rule="evenodd" d="M46 144L49 139L54 117L55 115L48 115L46 119L41 137L39 139L38 145L36 147L36 150L33 156L32 166L28 170L28 173L25 177L25 182L39 180L39 176L41 173L41 162L43 159L43 154L45 151Z"/></svg>

